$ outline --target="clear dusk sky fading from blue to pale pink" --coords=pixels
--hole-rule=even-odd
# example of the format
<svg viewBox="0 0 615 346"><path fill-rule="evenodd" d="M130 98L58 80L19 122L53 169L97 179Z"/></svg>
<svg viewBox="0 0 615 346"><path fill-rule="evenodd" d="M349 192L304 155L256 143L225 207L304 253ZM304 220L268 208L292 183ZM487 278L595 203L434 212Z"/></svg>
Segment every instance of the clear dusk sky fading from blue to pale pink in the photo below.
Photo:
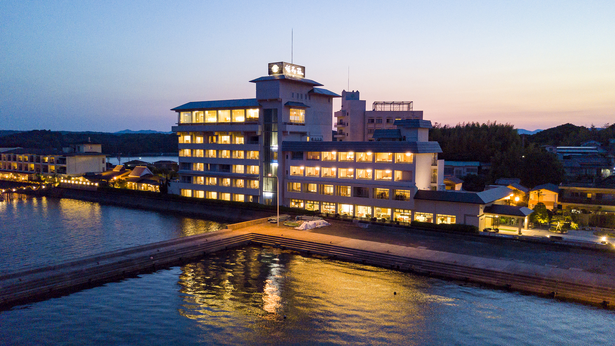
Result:
<svg viewBox="0 0 615 346"><path fill-rule="evenodd" d="M432 123L615 123L614 1L0 1L0 129L170 131L270 62ZM339 110L335 100L333 111ZM371 109L371 108L370 108Z"/></svg>

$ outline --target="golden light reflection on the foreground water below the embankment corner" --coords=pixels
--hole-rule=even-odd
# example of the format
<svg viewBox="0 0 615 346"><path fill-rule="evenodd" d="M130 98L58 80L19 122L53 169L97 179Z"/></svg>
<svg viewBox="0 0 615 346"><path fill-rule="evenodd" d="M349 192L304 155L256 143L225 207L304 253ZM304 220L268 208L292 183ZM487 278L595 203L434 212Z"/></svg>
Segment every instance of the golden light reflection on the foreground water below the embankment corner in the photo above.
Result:
<svg viewBox="0 0 615 346"><path fill-rule="evenodd" d="M358 334L408 345L408 334L428 329L427 307L455 305L422 292L425 278L289 252L245 247L185 265L179 313L204 328L248 328L236 331L245 344L272 335L284 340L285 328L293 328L326 330L336 343Z"/></svg>

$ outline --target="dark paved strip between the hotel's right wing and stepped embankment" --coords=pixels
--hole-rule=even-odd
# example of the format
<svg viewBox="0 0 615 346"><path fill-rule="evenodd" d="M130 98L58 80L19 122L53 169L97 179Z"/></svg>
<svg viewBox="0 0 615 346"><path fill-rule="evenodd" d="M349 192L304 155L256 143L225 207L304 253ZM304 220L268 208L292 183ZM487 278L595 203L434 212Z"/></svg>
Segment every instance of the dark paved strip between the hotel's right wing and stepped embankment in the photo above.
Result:
<svg viewBox="0 0 615 346"><path fill-rule="evenodd" d="M337 220L330 222L333 227L317 228L312 232L402 246L422 246L436 251L517 262L523 261L528 264L557 265L558 268L565 269L581 268L587 272L615 276L615 252L607 253L548 244L474 238L432 231L402 230L375 225L370 225L370 228L361 228L349 222Z"/></svg>

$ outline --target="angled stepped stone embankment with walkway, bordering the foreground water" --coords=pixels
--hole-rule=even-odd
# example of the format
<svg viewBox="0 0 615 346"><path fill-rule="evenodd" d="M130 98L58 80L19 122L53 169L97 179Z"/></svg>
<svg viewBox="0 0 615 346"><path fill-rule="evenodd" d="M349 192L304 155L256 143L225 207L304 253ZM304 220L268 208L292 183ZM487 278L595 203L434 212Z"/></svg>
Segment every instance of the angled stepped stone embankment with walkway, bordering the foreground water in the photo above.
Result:
<svg viewBox="0 0 615 346"><path fill-rule="evenodd" d="M84 288L130 273L169 267L248 243L605 307L613 307L615 302L615 282L609 275L277 228L266 223L266 219L229 225L227 230L82 257L49 267L6 273L0 275L0 301L4 305L13 305L20 301L44 299L57 291Z"/></svg>

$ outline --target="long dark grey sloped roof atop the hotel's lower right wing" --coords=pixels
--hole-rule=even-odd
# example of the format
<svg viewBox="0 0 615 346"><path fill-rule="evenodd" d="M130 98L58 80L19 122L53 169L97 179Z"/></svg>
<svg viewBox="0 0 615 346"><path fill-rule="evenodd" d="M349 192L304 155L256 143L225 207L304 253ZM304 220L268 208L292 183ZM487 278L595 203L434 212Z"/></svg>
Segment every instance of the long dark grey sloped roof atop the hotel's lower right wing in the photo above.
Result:
<svg viewBox="0 0 615 346"><path fill-rule="evenodd" d="M373 151L378 153L442 153L438 142L282 142L282 151Z"/></svg>

